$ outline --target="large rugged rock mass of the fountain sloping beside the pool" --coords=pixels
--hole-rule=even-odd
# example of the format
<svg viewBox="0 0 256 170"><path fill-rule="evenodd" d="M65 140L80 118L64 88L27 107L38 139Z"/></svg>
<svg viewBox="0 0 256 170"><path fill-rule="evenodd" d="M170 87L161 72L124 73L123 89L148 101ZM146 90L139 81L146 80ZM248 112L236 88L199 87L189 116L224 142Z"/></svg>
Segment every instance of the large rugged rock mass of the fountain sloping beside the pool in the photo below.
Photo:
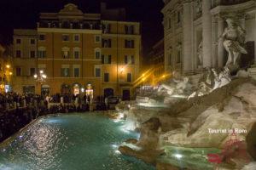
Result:
<svg viewBox="0 0 256 170"><path fill-rule="evenodd" d="M129 108L125 112L126 120L133 123L131 127L141 130L137 145L142 150L130 150L129 147L122 146L119 150L125 155L136 156L157 164L158 167L165 167L166 164L155 161L161 154L159 150L164 146L222 149L230 139L230 133L209 133L209 128L237 128L246 131L236 133L237 139L246 141L247 152L256 159L256 82L250 78L237 78L211 94L183 99L168 107L152 109L130 105ZM243 166L235 162L235 167L238 164L239 167ZM170 169L176 168L171 167Z"/></svg>

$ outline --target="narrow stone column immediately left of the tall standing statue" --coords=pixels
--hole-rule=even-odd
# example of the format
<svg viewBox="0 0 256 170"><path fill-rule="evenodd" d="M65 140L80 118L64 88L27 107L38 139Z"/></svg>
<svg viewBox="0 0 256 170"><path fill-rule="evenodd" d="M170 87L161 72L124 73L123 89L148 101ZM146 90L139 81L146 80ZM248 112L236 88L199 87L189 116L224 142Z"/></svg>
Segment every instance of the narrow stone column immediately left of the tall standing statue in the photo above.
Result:
<svg viewBox="0 0 256 170"><path fill-rule="evenodd" d="M218 37L221 37L224 33L224 20L221 17L218 17ZM218 67L221 68L224 66L224 45L223 38L218 39Z"/></svg>

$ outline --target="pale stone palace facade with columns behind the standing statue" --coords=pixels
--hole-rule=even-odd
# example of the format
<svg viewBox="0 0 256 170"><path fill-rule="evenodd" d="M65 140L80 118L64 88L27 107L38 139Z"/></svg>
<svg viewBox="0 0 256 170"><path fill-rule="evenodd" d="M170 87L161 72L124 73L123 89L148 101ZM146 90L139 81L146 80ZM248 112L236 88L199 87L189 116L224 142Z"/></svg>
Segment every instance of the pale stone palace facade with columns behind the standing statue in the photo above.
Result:
<svg viewBox="0 0 256 170"><path fill-rule="evenodd" d="M247 56L256 58L256 3L253 0L164 0L165 68L186 75L223 67L227 54L219 37L232 18L246 34Z"/></svg>

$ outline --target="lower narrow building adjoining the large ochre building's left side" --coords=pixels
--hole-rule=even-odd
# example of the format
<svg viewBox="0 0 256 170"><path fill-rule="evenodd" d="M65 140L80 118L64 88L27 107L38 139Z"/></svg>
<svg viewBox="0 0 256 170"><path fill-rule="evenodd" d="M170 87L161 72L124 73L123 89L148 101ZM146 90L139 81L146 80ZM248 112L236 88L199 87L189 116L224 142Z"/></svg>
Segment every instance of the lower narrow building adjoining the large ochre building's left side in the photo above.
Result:
<svg viewBox="0 0 256 170"><path fill-rule="evenodd" d="M33 75L37 69L37 38L36 30L14 30L13 46L13 91L22 94L34 94L37 82Z"/></svg>

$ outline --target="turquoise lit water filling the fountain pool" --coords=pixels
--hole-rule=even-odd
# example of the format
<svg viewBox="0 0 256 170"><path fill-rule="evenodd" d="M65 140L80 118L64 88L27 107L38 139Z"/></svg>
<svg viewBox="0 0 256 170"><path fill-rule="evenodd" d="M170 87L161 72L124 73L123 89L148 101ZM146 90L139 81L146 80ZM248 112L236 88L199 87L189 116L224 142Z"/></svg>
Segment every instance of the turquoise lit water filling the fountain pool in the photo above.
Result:
<svg viewBox="0 0 256 170"><path fill-rule="evenodd" d="M138 138L123 123L93 114L38 119L0 144L0 169L154 169L119 153L118 146L125 139Z"/></svg>

